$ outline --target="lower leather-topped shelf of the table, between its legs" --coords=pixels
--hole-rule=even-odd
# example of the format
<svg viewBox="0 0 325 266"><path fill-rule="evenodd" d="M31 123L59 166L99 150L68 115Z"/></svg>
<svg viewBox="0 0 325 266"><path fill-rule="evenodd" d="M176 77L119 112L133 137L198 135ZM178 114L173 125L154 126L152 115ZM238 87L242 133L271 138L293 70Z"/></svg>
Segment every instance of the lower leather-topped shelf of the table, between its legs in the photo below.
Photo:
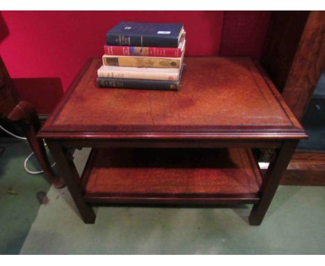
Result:
<svg viewBox="0 0 325 266"><path fill-rule="evenodd" d="M82 182L92 203L217 205L257 203L251 150L93 149Z"/></svg>

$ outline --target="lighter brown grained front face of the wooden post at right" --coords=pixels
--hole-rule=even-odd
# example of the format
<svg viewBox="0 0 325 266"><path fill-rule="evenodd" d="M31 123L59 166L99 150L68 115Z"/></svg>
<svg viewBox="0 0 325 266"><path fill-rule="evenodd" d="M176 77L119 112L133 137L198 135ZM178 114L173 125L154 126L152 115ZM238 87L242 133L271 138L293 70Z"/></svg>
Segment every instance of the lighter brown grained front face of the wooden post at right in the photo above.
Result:
<svg viewBox="0 0 325 266"><path fill-rule="evenodd" d="M324 62L325 11L310 11L283 88L283 98L299 120L307 110Z"/></svg>

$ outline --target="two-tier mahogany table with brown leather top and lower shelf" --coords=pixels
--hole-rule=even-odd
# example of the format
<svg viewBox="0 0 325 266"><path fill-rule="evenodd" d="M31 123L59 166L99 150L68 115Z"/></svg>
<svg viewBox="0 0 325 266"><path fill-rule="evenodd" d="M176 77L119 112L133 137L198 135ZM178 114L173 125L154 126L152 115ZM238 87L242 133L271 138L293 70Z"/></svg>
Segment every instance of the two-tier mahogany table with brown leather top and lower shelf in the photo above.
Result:
<svg viewBox="0 0 325 266"><path fill-rule="evenodd" d="M91 59L38 134L85 223L92 205L253 204L259 225L308 136L258 63L185 58L178 91L99 88ZM78 175L70 150L90 147ZM251 149L272 148L261 173Z"/></svg>

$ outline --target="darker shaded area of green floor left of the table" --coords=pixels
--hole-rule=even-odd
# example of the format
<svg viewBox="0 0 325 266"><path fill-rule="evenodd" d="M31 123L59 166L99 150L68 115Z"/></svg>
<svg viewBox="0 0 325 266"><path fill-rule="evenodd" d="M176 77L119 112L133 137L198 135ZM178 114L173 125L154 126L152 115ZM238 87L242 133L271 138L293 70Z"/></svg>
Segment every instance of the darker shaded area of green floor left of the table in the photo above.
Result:
<svg viewBox="0 0 325 266"><path fill-rule="evenodd" d="M17 254L38 215L38 191L49 191L50 185L42 174L24 171L24 159L31 153L26 141L0 138L0 254ZM0 148L0 152L3 150ZM35 158L28 164L38 170Z"/></svg>

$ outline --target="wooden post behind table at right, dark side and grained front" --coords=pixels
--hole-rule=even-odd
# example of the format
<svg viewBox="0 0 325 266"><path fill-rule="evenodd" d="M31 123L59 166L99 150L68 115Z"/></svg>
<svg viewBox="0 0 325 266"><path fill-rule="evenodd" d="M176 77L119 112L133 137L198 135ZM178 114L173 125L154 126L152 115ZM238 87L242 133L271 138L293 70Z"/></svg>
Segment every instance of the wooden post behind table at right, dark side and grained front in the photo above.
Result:
<svg viewBox="0 0 325 266"><path fill-rule="evenodd" d="M261 63L299 120L322 74L325 11L274 11Z"/></svg>

